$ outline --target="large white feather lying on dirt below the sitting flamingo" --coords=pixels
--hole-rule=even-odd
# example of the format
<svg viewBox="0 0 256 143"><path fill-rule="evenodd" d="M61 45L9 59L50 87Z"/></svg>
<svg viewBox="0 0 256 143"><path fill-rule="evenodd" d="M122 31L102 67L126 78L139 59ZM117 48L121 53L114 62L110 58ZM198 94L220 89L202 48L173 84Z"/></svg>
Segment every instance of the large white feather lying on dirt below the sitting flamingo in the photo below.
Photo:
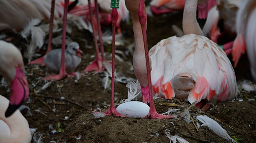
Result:
<svg viewBox="0 0 256 143"><path fill-rule="evenodd" d="M228 139L228 140L230 140L230 141L232 141L232 142L235 143L235 141L228 135L228 132L227 132L225 129L223 129L223 128L221 127L221 125L220 125L219 123L217 123L215 120L213 120L213 119L207 117L206 115L205 115L205 116L202 116L202 115L197 116L196 119L197 119L199 122L203 123L203 124L201 125L201 127L206 126L206 127L208 127L212 132L214 132L216 135L218 135L219 137L222 137L222 138L224 138L224 139Z"/></svg>

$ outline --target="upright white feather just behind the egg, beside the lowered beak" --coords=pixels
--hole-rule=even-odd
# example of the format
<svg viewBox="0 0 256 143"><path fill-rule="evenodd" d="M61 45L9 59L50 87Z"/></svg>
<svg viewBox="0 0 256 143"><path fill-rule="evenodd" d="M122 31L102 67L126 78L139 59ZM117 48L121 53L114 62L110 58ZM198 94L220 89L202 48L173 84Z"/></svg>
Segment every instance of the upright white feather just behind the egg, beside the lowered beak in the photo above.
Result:
<svg viewBox="0 0 256 143"><path fill-rule="evenodd" d="M133 99L135 99L136 101L141 99L141 88L138 88L137 84L134 81L128 82L128 84L126 84L126 87L128 91L128 98L121 100L121 103L129 102Z"/></svg>

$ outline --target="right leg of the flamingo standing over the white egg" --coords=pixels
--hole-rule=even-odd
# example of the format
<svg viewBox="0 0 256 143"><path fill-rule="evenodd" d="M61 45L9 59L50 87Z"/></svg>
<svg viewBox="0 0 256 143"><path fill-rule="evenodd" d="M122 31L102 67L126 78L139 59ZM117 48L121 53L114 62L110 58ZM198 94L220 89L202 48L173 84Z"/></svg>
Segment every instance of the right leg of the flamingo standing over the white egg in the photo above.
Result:
<svg viewBox="0 0 256 143"><path fill-rule="evenodd" d="M146 87L144 87L144 89L141 89L141 91L143 91L143 90L148 91L148 93L146 93L144 95L147 95L147 97L149 96L148 102L150 103L150 112L146 118L152 118L152 119L174 118L174 116L166 116L166 115L158 114L156 112L156 108L154 105L154 100L153 100L153 95L152 95L151 76L150 76L150 73L151 73L150 62L149 62L149 55L148 55L148 42L147 42L147 35L146 35L147 15L144 10L144 0L140 0L140 2L139 2L138 15L139 15L139 22L141 23L141 29L142 29L142 35L143 35L143 41L144 41L145 57L146 57L146 64L147 64L147 76L148 76L148 85ZM145 89L145 88L148 88L148 89ZM145 99L143 99L143 100L145 100Z"/></svg>

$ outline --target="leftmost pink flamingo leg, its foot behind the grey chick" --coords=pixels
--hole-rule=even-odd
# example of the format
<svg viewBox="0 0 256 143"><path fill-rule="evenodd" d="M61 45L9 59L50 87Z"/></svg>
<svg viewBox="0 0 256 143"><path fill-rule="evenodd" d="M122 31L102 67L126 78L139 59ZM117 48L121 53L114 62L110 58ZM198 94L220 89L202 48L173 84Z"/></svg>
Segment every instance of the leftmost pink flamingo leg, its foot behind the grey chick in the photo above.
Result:
<svg viewBox="0 0 256 143"><path fill-rule="evenodd" d="M53 26L53 19L54 19L54 8L55 8L55 0L52 0L48 48L47 48L46 54L48 54L52 50L52 26ZM43 57L36 59L35 61L31 61L28 64L36 64L36 65L45 66L45 63L43 63Z"/></svg>

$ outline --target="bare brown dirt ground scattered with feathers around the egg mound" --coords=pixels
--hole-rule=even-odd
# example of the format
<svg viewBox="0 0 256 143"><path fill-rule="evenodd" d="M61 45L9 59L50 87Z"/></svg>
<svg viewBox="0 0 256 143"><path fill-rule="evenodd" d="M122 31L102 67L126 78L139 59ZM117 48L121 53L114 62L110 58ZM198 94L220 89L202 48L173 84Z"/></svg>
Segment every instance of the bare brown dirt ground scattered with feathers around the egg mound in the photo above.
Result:
<svg viewBox="0 0 256 143"><path fill-rule="evenodd" d="M172 15L158 16L148 19L148 45L154 46L163 38L173 36L171 25L175 24L181 27L182 12ZM117 50L126 53L127 58L119 55L124 61L116 60L116 72L120 76L135 79L132 71L132 55L128 52L129 45L133 42L131 25L122 24L124 46L117 46ZM56 34L54 35L56 36ZM85 67L93 61L94 48L91 34L87 31L78 31L74 29L73 34L68 34L74 41L80 44L80 48L85 55L76 71L82 72ZM80 39L86 39L88 45L85 45ZM14 39L16 46L22 46L25 43L20 39ZM85 48L87 47L87 48ZM106 57L111 59L111 46L105 45ZM45 52L42 50L41 53ZM237 80L252 80L249 73L249 63L246 55L239 62L236 70ZM159 105L159 103L175 103L173 99L156 99L155 105L158 113L164 113L168 109L180 109L175 114L176 119L152 120L152 119L134 119L106 116L104 118L94 119L91 114L96 107L106 111L110 104L111 90L104 90L102 80L105 77L104 72L93 74L86 73L77 78L65 78L60 81L53 81L50 85L42 80L46 74L50 73L46 67L37 65L26 65L27 79L30 85L30 96L24 105L29 109L24 109L22 114L28 120L30 128L36 128L33 134L32 142L42 141L43 143L168 143L169 139L165 137L165 129L169 129L171 135L179 135L190 143L229 143L230 141L222 139L207 128L196 130L193 123L186 123L181 118L181 112L189 107L189 103L180 101L182 104L178 107L169 107ZM108 82L110 83L110 82ZM9 86L0 86L0 94L9 97ZM256 99L255 93L247 93L240 90L238 98L235 101L217 103L215 107L206 113L200 111L195 106L189 111L191 116L207 115L216 120L228 131L230 136L239 143L256 142ZM119 103L121 99L127 98L126 84L115 82L115 102ZM41 137L41 138L40 138Z"/></svg>

